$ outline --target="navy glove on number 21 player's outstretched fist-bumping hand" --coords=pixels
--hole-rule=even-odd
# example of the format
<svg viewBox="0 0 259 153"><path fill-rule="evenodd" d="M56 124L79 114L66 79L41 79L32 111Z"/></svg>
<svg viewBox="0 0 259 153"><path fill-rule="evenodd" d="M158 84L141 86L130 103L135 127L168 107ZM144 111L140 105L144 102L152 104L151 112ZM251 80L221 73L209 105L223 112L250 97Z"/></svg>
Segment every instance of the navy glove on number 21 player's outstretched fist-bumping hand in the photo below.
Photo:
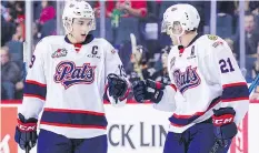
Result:
<svg viewBox="0 0 259 153"><path fill-rule="evenodd" d="M137 102L151 100L153 103L159 103L163 95L165 84L152 80L138 81L133 83L133 95Z"/></svg>

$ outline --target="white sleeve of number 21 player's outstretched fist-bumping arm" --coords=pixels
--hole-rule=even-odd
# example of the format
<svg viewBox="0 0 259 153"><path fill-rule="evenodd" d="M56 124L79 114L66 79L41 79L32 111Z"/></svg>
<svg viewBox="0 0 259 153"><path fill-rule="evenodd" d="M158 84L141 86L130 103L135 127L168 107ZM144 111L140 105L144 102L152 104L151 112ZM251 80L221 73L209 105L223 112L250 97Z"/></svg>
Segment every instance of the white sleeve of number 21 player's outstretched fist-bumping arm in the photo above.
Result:
<svg viewBox="0 0 259 153"><path fill-rule="evenodd" d="M176 92L177 92L177 88L176 88L176 83L173 81L173 76L172 76L172 72L171 72L171 64L173 62L173 58L171 54L169 54L168 57L168 64L167 64L167 70L168 70L168 74L171 81L170 85L166 85L165 90L163 90L163 96L161 99L161 101L157 104L153 104L153 108L156 110L160 110L160 111L166 111L166 112L173 112L176 110Z"/></svg>

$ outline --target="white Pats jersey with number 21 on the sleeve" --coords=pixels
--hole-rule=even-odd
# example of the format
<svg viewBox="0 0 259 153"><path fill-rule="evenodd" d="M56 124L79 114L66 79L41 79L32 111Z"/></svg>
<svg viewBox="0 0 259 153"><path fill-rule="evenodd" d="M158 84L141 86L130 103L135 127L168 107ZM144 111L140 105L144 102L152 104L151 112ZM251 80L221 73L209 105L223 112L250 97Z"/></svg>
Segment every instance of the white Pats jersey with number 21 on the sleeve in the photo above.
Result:
<svg viewBox="0 0 259 153"><path fill-rule="evenodd" d="M212 109L233 108L237 124L247 113L246 80L221 38L196 37L185 49L173 47L168 57L168 70L172 84L166 86L162 100L155 108L172 112L169 131L181 133L208 120L213 114Z"/></svg>

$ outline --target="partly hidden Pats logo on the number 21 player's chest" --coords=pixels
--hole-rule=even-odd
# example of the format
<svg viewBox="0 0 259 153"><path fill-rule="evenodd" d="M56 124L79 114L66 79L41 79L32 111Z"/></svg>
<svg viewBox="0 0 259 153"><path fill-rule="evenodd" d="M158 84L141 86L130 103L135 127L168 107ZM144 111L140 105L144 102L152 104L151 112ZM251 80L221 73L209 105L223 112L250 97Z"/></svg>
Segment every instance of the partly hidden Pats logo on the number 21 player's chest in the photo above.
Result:
<svg viewBox="0 0 259 153"><path fill-rule="evenodd" d="M179 69L173 71L173 79L181 93L200 84L197 67L187 67L185 72L181 72Z"/></svg>

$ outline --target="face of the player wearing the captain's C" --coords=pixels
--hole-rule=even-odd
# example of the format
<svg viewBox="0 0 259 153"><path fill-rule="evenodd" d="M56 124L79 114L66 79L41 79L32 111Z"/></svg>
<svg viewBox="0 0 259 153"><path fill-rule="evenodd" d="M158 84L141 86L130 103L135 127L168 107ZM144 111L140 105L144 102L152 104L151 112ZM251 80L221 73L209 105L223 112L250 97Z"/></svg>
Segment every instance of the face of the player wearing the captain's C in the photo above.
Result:
<svg viewBox="0 0 259 153"><path fill-rule="evenodd" d="M73 19L72 23L72 37L76 39L77 43L83 42L93 24L92 19Z"/></svg>

